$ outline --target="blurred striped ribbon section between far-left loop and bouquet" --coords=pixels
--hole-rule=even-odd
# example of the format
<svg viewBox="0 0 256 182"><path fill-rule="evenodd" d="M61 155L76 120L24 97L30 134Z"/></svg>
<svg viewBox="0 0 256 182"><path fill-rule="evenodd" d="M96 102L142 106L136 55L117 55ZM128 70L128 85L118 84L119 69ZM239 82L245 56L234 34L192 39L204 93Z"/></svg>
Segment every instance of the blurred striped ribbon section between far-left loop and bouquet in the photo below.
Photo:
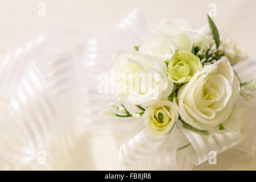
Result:
<svg viewBox="0 0 256 182"><path fill-rule="evenodd" d="M130 130L137 125L136 119L98 115L109 109L109 103L114 101L114 94L99 93L97 87L102 82L99 75L108 72L112 56L119 49L134 49L133 46L140 45L149 35L146 20L138 9L133 9L112 31L86 42L81 82L87 129Z"/></svg>

